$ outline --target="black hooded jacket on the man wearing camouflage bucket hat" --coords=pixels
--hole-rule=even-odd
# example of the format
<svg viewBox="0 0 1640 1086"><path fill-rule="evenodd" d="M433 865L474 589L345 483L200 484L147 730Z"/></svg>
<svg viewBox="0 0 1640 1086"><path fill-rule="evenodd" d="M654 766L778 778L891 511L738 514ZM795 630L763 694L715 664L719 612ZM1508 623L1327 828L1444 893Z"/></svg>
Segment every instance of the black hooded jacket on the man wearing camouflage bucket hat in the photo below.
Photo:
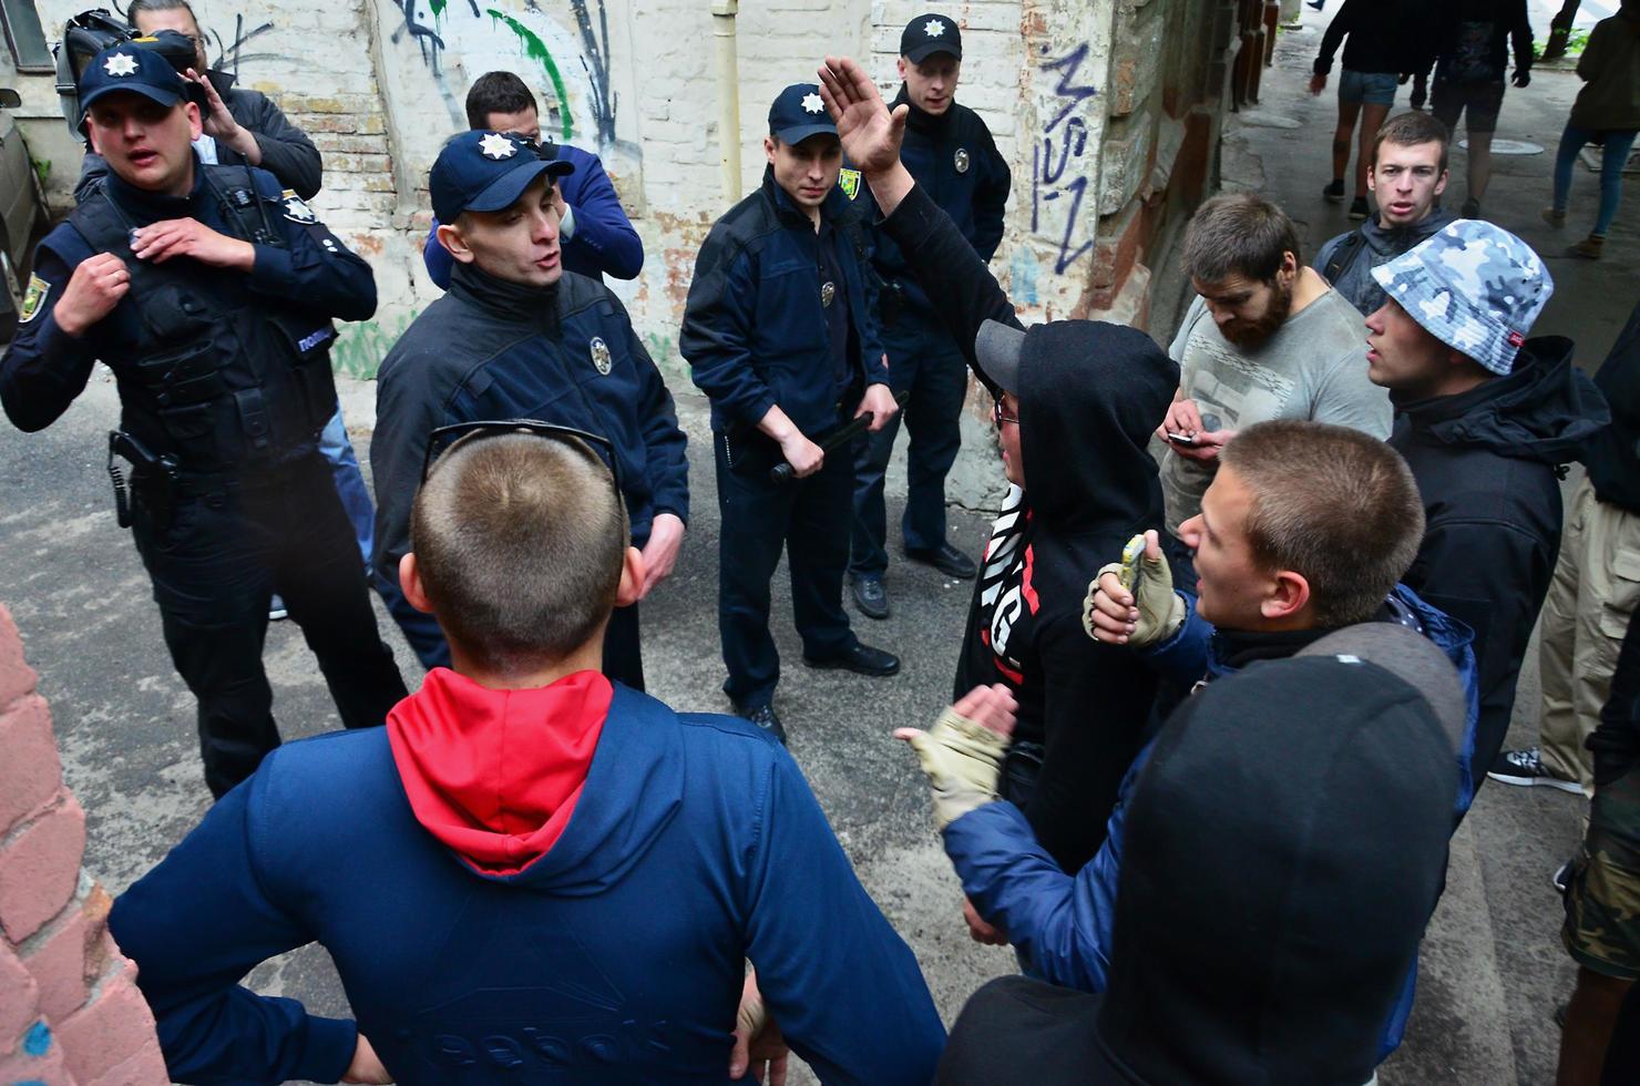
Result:
<svg viewBox="0 0 1640 1086"><path fill-rule="evenodd" d="M1528 340L1506 377L1396 404L1389 445L1424 497L1424 543L1402 581L1474 630L1479 783L1504 743L1515 679L1560 553L1560 464L1609 418L1571 340Z"/></svg>

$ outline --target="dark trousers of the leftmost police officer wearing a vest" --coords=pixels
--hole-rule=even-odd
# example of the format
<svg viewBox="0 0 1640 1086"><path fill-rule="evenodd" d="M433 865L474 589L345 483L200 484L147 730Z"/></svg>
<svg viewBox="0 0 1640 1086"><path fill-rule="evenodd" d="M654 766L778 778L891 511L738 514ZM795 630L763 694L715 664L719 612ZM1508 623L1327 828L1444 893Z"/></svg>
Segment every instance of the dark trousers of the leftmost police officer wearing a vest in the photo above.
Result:
<svg viewBox="0 0 1640 1086"><path fill-rule="evenodd" d="M330 466L303 454L226 482L182 481L169 518L136 487L133 535L177 673L198 699L205 784L221 797L279 746L262 668L279 586L349 728L384 723L405 684L371 610Z"/></svg>

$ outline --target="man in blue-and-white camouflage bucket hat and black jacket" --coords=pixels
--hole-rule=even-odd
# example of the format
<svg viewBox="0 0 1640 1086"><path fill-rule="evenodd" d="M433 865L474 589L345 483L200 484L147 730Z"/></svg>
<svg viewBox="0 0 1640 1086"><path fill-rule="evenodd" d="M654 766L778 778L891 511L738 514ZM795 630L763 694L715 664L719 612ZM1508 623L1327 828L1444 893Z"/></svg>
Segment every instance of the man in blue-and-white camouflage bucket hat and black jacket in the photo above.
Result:
<svg viewBox="0 0 1640 1086"><path fill-rule="evenodd" d="M1560 550L1558 466L1609 415L1571 341L1527 340L1555 284L1527 243L1461 218L1379 264L1389 300L1366 318L1368 376L1391 390L1389 443L1424 497L1404 577L1474 630L1481 720L1471 776L1509 732L1515 679Z"/></svg>

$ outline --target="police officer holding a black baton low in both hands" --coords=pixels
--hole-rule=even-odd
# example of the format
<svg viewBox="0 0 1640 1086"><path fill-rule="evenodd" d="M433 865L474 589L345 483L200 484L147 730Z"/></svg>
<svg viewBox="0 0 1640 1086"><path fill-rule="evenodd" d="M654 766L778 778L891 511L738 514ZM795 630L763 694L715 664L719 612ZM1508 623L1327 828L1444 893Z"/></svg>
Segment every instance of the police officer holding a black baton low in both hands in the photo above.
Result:
<svg viewBox="0 0 1640 1086"><path fill-rule="evenodd" d="M769 577L786 548L804 663L889 676L900 661L861 645L843 610L858 441L822 448L851 418L894 417L868 282L859 174L815 84L769 108L763 187L712 226L689 285L679 349L712 399L718 509L718 633L735 712L784 741ZM771 469L789 464L794 479Z"/></svg>

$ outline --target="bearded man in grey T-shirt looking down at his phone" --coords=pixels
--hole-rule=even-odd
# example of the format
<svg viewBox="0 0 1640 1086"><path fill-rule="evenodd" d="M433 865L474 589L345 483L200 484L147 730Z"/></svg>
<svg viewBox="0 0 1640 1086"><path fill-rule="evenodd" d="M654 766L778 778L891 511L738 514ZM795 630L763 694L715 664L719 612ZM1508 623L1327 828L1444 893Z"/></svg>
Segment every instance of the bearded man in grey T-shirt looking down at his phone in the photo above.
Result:
<svg viewBox="0 0 1640 1086"><path fill-rule="evenodd" d="M1179 390L1156 436L1169 554L1187 561L1179 525L1202 512L1219 453L1271 418L1330 422L1389 436L1389 395L1361 366L1361 315L1299 258L1292 220L1251 194L1205 202L1184 235L1184 271L1200 295L1168 353Z"/></svg>

